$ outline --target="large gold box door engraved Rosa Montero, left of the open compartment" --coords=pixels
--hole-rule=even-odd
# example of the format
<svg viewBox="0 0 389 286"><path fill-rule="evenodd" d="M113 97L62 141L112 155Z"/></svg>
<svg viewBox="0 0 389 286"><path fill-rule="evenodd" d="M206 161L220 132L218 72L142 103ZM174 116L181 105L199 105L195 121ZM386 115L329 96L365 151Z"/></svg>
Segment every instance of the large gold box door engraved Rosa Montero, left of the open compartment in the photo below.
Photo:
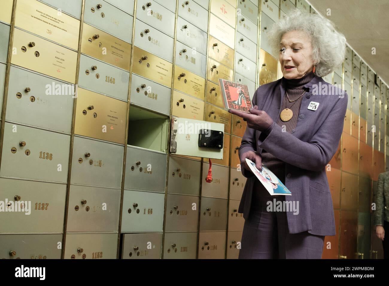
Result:
<svg viewBox="0 0 389 286"><path fill-rule="evenodd" d="M124 144L127 103L78 88L74 133Z"/></svg>

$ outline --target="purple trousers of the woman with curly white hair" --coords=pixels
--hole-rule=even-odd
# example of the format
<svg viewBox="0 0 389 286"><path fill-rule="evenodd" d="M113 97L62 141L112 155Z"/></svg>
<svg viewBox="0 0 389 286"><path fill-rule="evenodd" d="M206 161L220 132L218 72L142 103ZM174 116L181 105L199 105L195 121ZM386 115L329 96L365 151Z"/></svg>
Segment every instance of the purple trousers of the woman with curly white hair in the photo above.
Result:
<svg viewBox="0 0 389 286"><path fill-rule="evenodd" d="M290 234L286 212L266 210L266 203L273 202L274 197L256 197L254 194L249 218L244 223L239 259L321 259L324 235L307 231ZM288 196L275 198L287 200Z"/></svg>

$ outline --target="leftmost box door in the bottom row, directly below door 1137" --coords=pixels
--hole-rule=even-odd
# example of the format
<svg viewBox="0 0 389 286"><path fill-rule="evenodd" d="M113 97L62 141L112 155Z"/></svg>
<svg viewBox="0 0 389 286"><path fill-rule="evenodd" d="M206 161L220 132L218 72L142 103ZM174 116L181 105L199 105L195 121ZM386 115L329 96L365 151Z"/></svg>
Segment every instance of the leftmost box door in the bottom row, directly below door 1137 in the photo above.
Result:
<svg viewBox="0 0 389 286"><path fill-rule="evenodd" d="M60 259L62 234L2 234L2 259Z"/></svg>

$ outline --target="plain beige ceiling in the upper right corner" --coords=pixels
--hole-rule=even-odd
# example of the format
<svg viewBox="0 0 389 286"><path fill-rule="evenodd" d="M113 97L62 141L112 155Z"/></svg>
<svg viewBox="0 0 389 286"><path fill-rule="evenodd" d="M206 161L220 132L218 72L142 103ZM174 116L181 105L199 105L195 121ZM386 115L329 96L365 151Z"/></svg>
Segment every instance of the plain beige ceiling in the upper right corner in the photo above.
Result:
<svg viewBox="0 0 389 286"><path fill-rule="evenodd" d="M308 0L345 35L347 44L389 85L389 0ZM331 9L331 16L327 15ZM376 54L371 54L372 47Z"/></svg>

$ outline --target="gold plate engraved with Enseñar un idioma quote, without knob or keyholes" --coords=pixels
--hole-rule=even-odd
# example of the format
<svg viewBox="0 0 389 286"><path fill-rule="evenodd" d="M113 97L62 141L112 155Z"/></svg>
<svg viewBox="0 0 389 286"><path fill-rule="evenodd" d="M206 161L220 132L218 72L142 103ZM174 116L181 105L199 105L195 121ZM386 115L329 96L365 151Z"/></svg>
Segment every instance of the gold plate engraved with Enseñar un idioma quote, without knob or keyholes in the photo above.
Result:
<svg viewBox="0 0 389 286"><path fill-rule="evenodd" d="M16 2L15 26L78 50L80 21L37 0Z"/></svg>

